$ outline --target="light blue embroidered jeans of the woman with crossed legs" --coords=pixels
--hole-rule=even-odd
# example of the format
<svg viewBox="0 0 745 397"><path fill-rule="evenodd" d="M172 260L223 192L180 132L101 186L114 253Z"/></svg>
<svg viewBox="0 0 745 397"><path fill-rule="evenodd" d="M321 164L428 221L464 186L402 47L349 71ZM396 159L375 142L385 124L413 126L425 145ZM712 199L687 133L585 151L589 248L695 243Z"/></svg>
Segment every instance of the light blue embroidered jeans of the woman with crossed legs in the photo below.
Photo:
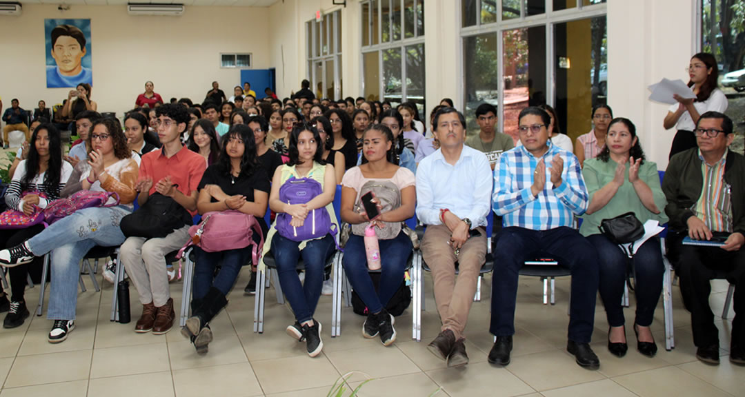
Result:
<svg viewBox="0 0 745 397"><path fill-rule="evenodd" d="M115 247L123 243L119 221L128 214L130 209L123 206L80 209L28 241L34 255L51 251L49 320L75 320L80 261L96 245Z"/></svg>

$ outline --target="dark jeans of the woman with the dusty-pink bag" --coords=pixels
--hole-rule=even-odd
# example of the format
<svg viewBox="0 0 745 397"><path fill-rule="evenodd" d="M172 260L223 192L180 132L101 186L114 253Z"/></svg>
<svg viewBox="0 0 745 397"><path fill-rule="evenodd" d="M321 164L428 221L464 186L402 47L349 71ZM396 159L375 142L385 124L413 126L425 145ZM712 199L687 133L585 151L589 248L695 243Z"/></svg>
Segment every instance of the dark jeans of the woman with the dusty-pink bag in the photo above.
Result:
<svg viewBox="0 0 745 397"><path fill-rule="evenodd" d="M197 263L194 265L194 290L192 299L202 299L210 287L215 287L227 296L230 292L241 267L251 262L252 246L227 250L218 253L208 253L200 247L194 248ZM215 267L220 265L220 271L215 276Z"/></svg>

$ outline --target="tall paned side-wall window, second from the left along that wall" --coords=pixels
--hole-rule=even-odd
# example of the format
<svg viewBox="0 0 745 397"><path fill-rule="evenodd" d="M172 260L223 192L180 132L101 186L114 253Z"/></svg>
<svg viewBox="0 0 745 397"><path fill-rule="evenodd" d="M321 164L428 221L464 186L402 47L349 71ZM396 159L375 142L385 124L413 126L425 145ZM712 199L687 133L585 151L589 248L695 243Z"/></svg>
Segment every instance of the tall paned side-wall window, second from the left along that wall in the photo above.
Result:
<svg viewBox="0 0 745 397"><path fill-rule="evenodd" d="M377 37L363 39L362 92L367 100L390 101L394 107L412 101L424 111L424 4L422 0L362 3L363 30L364 26L381 26L380 32L369 29Z"/></svg>

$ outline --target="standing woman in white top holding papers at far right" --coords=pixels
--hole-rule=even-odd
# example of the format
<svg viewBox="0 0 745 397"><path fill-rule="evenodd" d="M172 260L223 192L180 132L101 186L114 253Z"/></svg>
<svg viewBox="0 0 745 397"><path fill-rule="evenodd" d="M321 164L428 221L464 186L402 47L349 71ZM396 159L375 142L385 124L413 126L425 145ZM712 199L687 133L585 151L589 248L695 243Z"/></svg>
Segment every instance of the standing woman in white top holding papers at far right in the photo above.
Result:
<svg viewBox="0 0 745 397"><path fill-rule="evenodd" d="M691 77L688 86L696 98L684 99L677 94L673 95L678 104L670 107L663 122L665 130L672 127L678 130L670 150L671 158L675 153L696 147L696 136L693 131L700 115L710 110L723 113L728 105L727 97L717 88L719 70L714 55L706 52L694 55L688 65L688 76Z"/></svg>

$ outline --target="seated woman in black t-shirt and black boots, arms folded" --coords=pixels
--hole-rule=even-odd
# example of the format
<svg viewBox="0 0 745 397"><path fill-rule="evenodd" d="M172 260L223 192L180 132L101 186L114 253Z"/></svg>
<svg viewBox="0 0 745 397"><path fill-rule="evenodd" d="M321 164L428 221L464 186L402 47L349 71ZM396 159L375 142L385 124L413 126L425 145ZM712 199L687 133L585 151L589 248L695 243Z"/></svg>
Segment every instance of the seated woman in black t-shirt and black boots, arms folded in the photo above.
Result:
<svg viewBox="0 0 745 397"><path fill-rule="evenodd" d="M240 87L238 87L240 88ZM261 233L267 232L264 214L269 200L269 177L256 159L253 132L244 124L230 128L218 162L204 171L199 182L197 209L201 215L213 211L241 212L259 221ZM261 235L252 235L256 244ZM191 317L182 334L191 339L197 353L206 353L212 341L209 322L228 301L226 296L245 264L252 261L253 246L208 253L194 248L194 289L191 294Z"/></svg>

